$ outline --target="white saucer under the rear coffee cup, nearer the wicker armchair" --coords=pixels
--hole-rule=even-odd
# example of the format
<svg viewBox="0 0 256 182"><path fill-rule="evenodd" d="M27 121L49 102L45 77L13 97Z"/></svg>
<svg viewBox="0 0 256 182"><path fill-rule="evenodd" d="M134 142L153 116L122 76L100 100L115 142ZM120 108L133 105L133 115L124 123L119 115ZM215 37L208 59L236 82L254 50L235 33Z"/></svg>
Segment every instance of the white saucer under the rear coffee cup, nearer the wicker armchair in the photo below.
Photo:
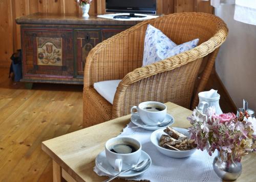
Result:
<svg viewBox="0 0 256 182"><path fill-rule="evenodd" d="M170 120L170 119L172 119L172 121L166 126L172 125L174 123L174 117L170 114L166 114L166 117L164 118L163 122L167 121L167 120ZM139 114L132 114L131 121L135 125L141 126L141 128L151 130L151 131L155 131L157 129L166 127L166 126L154 126L154 125L153 126L143 126L143 125L145 125L145 123L143 123L143 121L140 119Z"/></svg>

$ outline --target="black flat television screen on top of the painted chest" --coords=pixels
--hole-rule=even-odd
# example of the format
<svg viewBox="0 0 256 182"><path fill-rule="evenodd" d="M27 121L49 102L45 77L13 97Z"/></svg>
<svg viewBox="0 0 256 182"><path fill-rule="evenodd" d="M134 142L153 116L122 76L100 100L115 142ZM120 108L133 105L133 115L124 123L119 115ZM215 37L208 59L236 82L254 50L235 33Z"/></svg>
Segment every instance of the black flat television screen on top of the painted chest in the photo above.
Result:
<svg viewBox="0 0 256 182"><path fill-rule="evenodd" d="M106 0L106 12L156 14L156 0Z"/></svg>

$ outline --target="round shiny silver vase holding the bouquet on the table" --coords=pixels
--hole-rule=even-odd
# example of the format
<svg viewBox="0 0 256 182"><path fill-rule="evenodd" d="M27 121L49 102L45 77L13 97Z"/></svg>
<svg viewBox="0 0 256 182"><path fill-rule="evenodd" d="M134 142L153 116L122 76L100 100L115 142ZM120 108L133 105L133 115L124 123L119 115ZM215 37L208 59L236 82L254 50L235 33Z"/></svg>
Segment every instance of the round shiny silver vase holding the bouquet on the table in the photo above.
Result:
<svg viewBox="0 0 256 182"><path fill-rule="evenodd" d="M228 165L227 162L222 161L220 155L215 157L212 166L216 174L226 181L236 180L242 173L242 164L240 162Z"/></svg>

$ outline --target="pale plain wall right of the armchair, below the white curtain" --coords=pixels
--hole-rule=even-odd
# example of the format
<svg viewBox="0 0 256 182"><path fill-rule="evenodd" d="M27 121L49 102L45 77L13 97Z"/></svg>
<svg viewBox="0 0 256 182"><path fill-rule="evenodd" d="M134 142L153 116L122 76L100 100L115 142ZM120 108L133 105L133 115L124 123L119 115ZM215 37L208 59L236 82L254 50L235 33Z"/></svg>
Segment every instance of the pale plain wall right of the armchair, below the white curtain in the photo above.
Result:
<svg viewBox="0 0 256 182"><path fill-rule="evenodd" d="M256 111L256 25L233 19L234 5L215 9L229 28L229 35L216 60L216 70L237 107L242 99Z"/></svg>

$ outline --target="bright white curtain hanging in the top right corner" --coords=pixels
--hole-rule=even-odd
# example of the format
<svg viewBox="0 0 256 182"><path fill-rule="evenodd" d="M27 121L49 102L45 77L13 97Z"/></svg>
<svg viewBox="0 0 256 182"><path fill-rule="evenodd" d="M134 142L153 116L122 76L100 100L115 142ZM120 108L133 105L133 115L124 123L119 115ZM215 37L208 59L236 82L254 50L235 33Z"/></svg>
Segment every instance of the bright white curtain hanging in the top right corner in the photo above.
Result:
<svg viewBox="0 0 256 182"><path fill-rule="evenodd" d="M234 19L256 25L256 0L210 0L210 4L215 8L220 7L221 4L236 4Z"/></svg>

